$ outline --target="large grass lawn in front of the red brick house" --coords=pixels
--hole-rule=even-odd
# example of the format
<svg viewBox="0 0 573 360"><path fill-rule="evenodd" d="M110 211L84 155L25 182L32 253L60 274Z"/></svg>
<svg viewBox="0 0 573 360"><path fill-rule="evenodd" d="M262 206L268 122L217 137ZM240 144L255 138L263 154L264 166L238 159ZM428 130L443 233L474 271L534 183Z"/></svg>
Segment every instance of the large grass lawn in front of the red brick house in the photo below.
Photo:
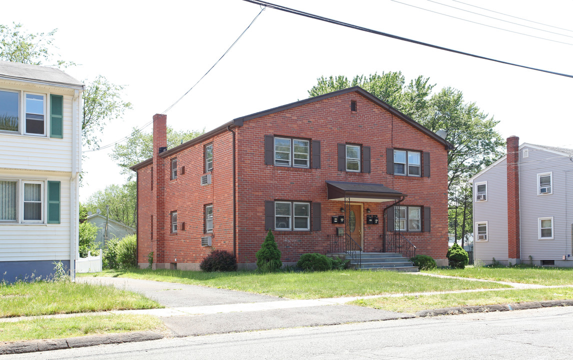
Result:
<svg viewBox="0 0 573 360"><path fill-rule="evenodd" d="M339 298L379 294L402 294L425 291L505 288L507 285L480 281L439 279L393 271L325 271L256 273L199 272L180 270L132 269L105 271L88 276L131 277L203 285L289 299Z"/></svg>

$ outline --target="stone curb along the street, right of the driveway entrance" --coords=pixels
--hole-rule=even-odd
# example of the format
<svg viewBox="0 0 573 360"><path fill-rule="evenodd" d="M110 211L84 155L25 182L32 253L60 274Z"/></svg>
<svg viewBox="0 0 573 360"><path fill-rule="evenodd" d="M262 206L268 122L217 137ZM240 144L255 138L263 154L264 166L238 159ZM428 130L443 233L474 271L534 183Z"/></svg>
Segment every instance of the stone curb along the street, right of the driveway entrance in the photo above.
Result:
<svg viewBox="0 0 573 360"><path fill-rule="evenodd" d="M415 312L414 315L423 318L425 316L473 314L476 312L492 312L492 311L527 310L527 309L539 309L542 307L555 307L555 306L573 306L573 300L547 300L543 302L531 302L531 303L519 303L519 304L448 307L443 309L422 310Z"/></svg>

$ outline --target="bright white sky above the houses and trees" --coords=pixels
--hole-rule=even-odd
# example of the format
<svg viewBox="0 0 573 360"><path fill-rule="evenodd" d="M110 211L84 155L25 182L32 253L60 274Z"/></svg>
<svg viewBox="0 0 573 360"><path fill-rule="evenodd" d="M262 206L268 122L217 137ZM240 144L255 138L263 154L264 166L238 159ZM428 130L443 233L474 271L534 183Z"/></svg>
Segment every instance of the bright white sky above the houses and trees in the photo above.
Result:
<svg viewBox="0 0 573 360"><path fill-rule="evenodd" d="M399 0L499 28L573 44L573 32L549 28L436 0L556 33L524 28L452 9L428 0ZM573 2L461 0L543 24L573 30ZM527 37L449 18L391 0L274 0L307 11L463 52L573 74L573 45ZM102 135L102 145L123 138L162 113L214 64L260 7L241 0L211 1L12 1L3 2L0 24L20 22L30 32L58 28L61 58L81 64L65 71L78 80L101 74L126 86L134 109ZM409 81L423 75L435 89L454 87L466 101L500 120L501 135L521 142L573 148L573 79L478 60L266 9L233 49L167 113L167 123L207 131L239 116L306 99L322 75L369 75L402 71ZM146 130L151 131L151 127ZM80 191L125 177L108 150L90 152Z"/></svg>

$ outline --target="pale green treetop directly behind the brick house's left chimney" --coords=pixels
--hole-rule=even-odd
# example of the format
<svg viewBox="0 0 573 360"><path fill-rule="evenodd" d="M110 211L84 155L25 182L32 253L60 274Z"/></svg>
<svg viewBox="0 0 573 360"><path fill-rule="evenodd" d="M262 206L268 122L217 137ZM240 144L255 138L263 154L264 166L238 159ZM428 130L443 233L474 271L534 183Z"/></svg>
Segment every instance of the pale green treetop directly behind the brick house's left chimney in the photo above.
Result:
<svg viewBox="0 0 573 360"><path fill-rule="evenodd" d="M201 131L176 131L172 127L167 126L167 147L178 146L203 134L205 134L205 129ZM153 134L151 132L139 131L135 127L127 142L124 144L116 144L113 148L113 152L109 154L109 157L122 168L121 173L128 175L129 180L135 176L135 173L131 171L129 167L149 159L152 156Z"/></svg>

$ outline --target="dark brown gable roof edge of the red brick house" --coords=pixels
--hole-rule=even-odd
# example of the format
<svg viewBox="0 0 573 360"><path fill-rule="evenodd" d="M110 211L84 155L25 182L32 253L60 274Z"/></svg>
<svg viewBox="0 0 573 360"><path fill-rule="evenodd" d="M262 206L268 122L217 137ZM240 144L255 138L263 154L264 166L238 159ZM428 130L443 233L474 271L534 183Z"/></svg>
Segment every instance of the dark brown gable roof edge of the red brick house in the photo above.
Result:
<svg viewBox="0 0 573 360"><path fill-rule="evenodd" d="M404 122L406 122L407 124L410 124L411 126L416 128L417 130L423 132L427 136L430 136L430 138L433 138L438 143L443 144L444 147L446 148L446 150L453 148L453 145L450 142L448 142L446 139L442 138L441 136L437 135L435 132L431 131L429 128L427 128L427 127L423 126L422 124L416 122L415 120L409 118L409 116L402 114L402 112L398 111L398 109L395 109L395 108L391 107L390 105L384 103L384 101L378 99L378 97L372 95L371 93L367 92L363 88L361 88L359 86L355 86L355 87L351 87L351 88L346 88L346 89L342 89L342 90L329 92L329 93L326 93L324 95L309 97L308 99L295 101L294 103L281 105L281 106L278 106L275 108L255 112L254 114L241 116L240 118L235 118L228 123L225 123L225 124L223 124L217 128L214 128L213 130L206 132L205 134L203 134L201 136L198 136L195 139L191 139L186 143L183 143L183 144L180 144L179 146L170 148L167 151L163 151L161 154L159 154L159 156L162 158L164 158L166 156L170 156L170 155L174 154L175 152L181 151L187 147L191 147L197 143L203 142L203 141L205 141L205 140L207 140L207 139L209 139L215 135L221 134L222 132L225 132L231 128L241 127L248 120L261 118L262 116L274 114L276 112L285 111L285 110L299 107L302 105L311 104L311 103L314 103L315 101L321 101L321 100L329 99L331 97L351 93L351 92L359 93L360 95L366 97L366 99L372 101L372 103L378 105L379 107L382 107L383 109L386 109L386 111L390 112L390 114L393 114L397 118L402 119ZM141 167L149 165L151 162L152 162L152 158L147 159L145 161L142 161L142 162L130 167L129 169L137 171Z"/></svg>

